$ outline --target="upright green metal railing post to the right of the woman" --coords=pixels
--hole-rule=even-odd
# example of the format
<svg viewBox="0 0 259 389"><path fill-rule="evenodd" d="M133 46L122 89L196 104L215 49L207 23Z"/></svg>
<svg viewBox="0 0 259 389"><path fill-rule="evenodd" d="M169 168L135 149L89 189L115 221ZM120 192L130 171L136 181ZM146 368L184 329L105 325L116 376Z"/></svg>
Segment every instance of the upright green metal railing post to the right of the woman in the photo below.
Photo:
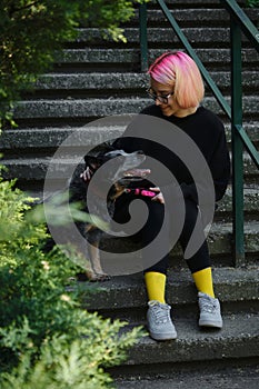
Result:
<svg viewBox="0 0 259 389"><path fill-rule="evenodd" d="M236 126L242 126L241 30L231 17L231 143L233 255L236 267L245 262L243 238L243 147Z"/></svg>

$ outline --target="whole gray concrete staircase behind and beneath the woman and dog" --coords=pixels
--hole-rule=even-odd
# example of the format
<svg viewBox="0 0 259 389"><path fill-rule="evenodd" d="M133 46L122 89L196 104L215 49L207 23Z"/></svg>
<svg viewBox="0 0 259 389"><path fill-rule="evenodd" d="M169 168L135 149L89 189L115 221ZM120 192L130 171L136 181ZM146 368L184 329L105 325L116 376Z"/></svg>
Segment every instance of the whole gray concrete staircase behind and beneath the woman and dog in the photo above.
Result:
<svg viewBox="0 0 259 389"><path fill-rule="evenodd" d="M211 77L230 101L229 17L220 1L171 0L168 4ZM150 61L165 50L182 49L155 1L148 9ZM258 9L249 9L247 13L258 22ZM76 141L60 161L58 180L63 179L64 167L73 162L74 156L80 156L82 144L90 147L102 142L106 137L120 136L124 128L121 114L138 113L150 103L145 92L148 78L140 71L137 17L126 26L126 37L127 43L116 43L109 39L104 41L98 28L81 28L77 41L66 43L63 53L57 56L53 69L42 74L33 91L24 93L17 104L14 117L18 128L7 129L0 139L2 163L8 167L4 172L7 178L18 178L20 188L41 197L50 160L68 136L76 133ZM259 56L246 38L242 57L245 129L258 148ZM229 121L209 90L203 104L223 120L230 147ZM97 120L107 116L118 117L110 126L103 126ZM166 388L165 382L172 385L168 388L178 388L180 381L172 382L172 376L173 379L179 377L182 382L190 382L188 375L202 372L203 367L208 369L208 375L212 371L211 377L215 377L215 369L231 370L240 366L245 369L242 371L249 371L249 377L255 378L259 356L259 173L246 151L243 166L243 268L235 268L232 257L230 186L216 212L208 238L215 266L216 292L222 302L223 330L198 329L197 293L177 246L171 252L167 290L179 337L166 343L143 338L122 366L110 370L119 388ZM132 243L129 241L127 245L130 248ZM127 245L121 248L118 239L103 241L103 248L116 247L118 250L127 249ZM103 317L123 319L128 322L128 329L145 325L147 296L142 275L113 277L103 285L79 285L82 290L86 289L83 308L98 310ZM182 376L179 376L180 372ZM167 376L167 380L163 380L162 375ZM200 381L205 382L202 388L207 389L208 380L205 378ZM253 389L252 385L250 387ZM215 388L212 383L210 387ZM179 388L187 387L182 383Z"/></svg>

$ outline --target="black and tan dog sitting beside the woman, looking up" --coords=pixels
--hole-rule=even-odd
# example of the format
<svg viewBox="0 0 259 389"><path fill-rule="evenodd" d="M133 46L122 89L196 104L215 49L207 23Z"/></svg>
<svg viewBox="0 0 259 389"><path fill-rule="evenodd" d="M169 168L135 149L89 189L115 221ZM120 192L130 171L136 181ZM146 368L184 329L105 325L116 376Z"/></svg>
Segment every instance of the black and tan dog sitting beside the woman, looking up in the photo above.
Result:
<svg viewBox="0 0 259 389"><path fill-rule="evenodd" d="M87 199L90 196L93 199L93 211L96 207L98 213L102 216L107 215L108 210L112 218L116 200L130 190L129 187L132 182L142 181L150 173L149 169L139 168L145 160L146 156L141 150L127 153L108 144L102 146L99 151L94 150L88 153L84 156L83 170L77 169L69 182L69 202L80 203L81 211L89 213ZM99 170L101 167L104 169ZM99 173L99 184L91 184L97 172ZM109 188L108 192L103 188ZM107 208L106 212L100 209L103 205ZM78 278L83 280L86 277L89 281L108 280L110 277L102 269L99 250L103 231L91 221L76 221L74 223L82 237L90 243L88 252L83 252L86 260L89 260L90 263L86 261L86 270L78 275Z"/></svg>

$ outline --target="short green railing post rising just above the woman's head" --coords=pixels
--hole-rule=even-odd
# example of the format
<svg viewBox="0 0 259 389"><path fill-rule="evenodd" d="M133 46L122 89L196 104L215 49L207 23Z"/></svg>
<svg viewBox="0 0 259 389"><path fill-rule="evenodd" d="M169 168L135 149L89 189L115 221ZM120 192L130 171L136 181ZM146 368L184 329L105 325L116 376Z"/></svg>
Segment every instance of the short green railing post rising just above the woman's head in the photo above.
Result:
<svg viewBox="0 0 259 389"><path fill-rule="evenodd" d="M141 71L148 70L147 3L139 6L139 36Z"/></svg>

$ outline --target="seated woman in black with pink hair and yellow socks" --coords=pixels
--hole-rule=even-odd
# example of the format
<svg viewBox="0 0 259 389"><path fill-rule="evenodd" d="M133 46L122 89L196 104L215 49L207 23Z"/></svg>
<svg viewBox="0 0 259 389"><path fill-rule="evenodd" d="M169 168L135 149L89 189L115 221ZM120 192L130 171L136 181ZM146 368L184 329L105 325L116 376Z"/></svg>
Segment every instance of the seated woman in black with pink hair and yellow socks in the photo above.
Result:
<svg viewBox="0 0 259 389"><path fill-rule="evenodd" d="M148 94L155 103L145 108L140 113L166 120L180 128L198 146L210 169L216 202L226 191L229 176L230 161L227 149L225 129L219 118L210 110L200 106L203 99L203 82L195 61L185 52L166 52L159 57L149 68L150 88ZM188 174L185 163L167 150L163 146L153 146L146 138L148 133L139 129L139 137L130 136L132 126L126 130L123 137L114 142L118 148L127 152L143 150L148 156L161 161L177 178L185 199L186 216L182 231L179 237L180 245L186 250L191 233L198 221L203 231L202 216L199 212L197 189L192 178ZM170 133L168 134L170 136ZM147 184L147 182L146 182ZM141 239L149 245L159 232L163 222L165 196L156 186L149 188L157 194L143 198L149 209L149 218L141 230ZM123 194L116 203L114 219L119 222L129 220L129 203L133 194ZM176 202L176 198L173 200ZM173 220L173 218L172 218ZM172 222L173 223L173 222ZM163 235L165 245L168 237ZM170 306L165 300L167 269L169 256L163 256L157 263L145 270L145 281L148 292L148 329L156 340L175 339L176 328L170 317ZM219 300L215 297L211 276L211 265L206 238L200 248L191 258L187 259L195 285L198 290L200 318L199 326L222 328L222 318Z"/></svg>

